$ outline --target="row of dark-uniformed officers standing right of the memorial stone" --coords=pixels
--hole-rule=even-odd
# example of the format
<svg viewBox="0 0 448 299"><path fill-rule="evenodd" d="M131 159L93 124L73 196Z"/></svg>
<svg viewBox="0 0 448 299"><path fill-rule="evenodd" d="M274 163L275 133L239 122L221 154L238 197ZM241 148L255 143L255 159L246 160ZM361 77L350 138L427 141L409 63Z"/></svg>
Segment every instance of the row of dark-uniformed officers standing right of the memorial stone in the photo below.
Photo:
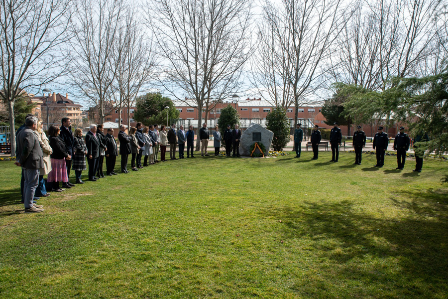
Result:
<svg viewBox="0 0 448 299"><path fill-rule="evenodd" d="M297 129L294 130L294 151L296 152L296 158L300 157L301 146L303 141L303 130L300 128L302 124L297 124ZM353 164L361 165L362 160L362 149L365 147L366 136L364 131L361 130L361 126L357 126L357 130L353 133L353 148L355 151L355 162ZM372 148L376 150L376 164L374 167L383 167L384 165L384 155L386 153L387 147L389 145L389 138L385 132L383 132L383 127L378 127L378 133L373 137ZM397 168L398 170L404 169L404 164L406 161L406 152L409 150L411 140L404 132L405 128L400 127L400 132L395 136L394 140L394 150L397 151ZM322 136L319 131L319 126L315 125L311 132L311 144L313 148L313 158L316 160L319 157L319 144L321 143ZM333 124L333 128L330 131L330 144L332 148L332 159L330 162L337 162L339 157L339 146L341 145L342 134L340 129L337 127L337 123ZM418 135L415 138L415 142L426 142L429 141L428 135ZM415 147L415 146L414 146ZM421 172L423 165L423 156L420 156L417 152L414 153L416 159L416 167L413 171Z"/></svg>

